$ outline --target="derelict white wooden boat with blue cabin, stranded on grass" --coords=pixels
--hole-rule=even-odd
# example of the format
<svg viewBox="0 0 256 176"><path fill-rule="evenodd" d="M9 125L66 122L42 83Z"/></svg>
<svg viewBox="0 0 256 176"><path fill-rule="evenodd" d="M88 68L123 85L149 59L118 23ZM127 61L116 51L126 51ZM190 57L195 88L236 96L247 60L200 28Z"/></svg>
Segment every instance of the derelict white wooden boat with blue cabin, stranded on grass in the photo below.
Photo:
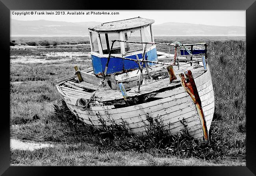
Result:
<svg viewBox="0 0 256 176"><path fill-rule="evenodd" d="M141 135L149 115L161 117L170 134L186 126L195 139L208 140L214 94L207 55L197 57L186 47L207 45L156 43L153 23L138 17L90 27L93 67L75 66L56 87L70 111L89 125L125 122ZM156 45L174 47L174 55L159 62ZM178 56L180 48L189 57Z"/></svg>

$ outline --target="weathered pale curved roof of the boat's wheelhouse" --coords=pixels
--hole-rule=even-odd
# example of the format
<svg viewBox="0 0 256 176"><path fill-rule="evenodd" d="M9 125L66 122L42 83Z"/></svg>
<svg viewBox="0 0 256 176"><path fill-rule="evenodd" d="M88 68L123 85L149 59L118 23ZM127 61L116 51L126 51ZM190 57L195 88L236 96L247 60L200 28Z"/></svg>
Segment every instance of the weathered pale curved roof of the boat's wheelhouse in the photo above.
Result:
<svg viewBox="0 0 256 176"><path fill-rule="evenodd" d="M102 23L101 25L89 27L88 29L96 32L120 32L139 27L144 27L153 24L154 22L155 21L151 19L136 17L126 20L119 20L115 22Z"/></svg>

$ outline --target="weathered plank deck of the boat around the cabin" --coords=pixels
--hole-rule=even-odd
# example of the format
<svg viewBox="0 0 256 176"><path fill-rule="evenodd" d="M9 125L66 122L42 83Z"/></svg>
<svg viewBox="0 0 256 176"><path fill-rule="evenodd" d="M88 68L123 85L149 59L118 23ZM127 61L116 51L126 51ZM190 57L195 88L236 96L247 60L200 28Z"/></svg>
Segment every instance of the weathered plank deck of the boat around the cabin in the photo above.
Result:
<svg viewBox="0 0 256 176"><path fill-rule="evenodd" d="M159 65L159 67L163 67L163 65ZM164 92L167 90L174 89L176 87L180 87L181 83L180 83L180 78L178 74L184 73L184 71L191 70L194 78L197 78L198 76L202 75L205 72L203 66L199 64L193 64L192 66L190 66L190 63L186 65L181 65L180 69L178 69L177 66L174 66L173 69L174 69L174 73L176 74L177 80L174 80L172 83L170 83L169 77L167 77L163 79L160 78L158 80L150 81L150 79L148 79L148 76L144 75L145 84L141 85L139 93L136 93L138 90L138 86L134 86L126 90L128 99L130 100L131 98L145 96L153 93ZM92 74L94 76L93 70L87 71L87 73ZM140 73L137 73L138 76L139 74ZM96 76L95 78L99 79ZM95 96L93 98L94 101L92 101L92 102L97 101L97 103L95 104L98 104L98 105L102 103L104 105L113 105L113 103L125 104L124 98L120 90L113 90L113 89L110 89L108 86L98 87L98 85L88 83L86 82L86 80L79 83L76 77L69 79L63 83L60 83L57 86L62 91L62 93L65 94L65 96L69 96L70 98L75 98L75 99L77 98L89 99L91 95L95 92L95 90L98 88L98 91L96 91Z"/></svg>

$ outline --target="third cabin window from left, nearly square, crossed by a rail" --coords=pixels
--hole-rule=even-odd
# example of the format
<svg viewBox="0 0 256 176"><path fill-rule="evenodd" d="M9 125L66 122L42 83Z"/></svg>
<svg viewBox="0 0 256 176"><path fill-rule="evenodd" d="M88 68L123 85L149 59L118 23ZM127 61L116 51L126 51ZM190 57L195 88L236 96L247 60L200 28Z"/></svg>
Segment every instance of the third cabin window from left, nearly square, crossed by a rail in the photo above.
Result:
<svg viewBox="0 0 256 176"><path fill-rule="evenodd" d="M142 42L140 30L124 32L123 38L124 40ZM141 51L142 44L124 43L124 48L125 48L125 53L130 53L133 51Z"/></svg>

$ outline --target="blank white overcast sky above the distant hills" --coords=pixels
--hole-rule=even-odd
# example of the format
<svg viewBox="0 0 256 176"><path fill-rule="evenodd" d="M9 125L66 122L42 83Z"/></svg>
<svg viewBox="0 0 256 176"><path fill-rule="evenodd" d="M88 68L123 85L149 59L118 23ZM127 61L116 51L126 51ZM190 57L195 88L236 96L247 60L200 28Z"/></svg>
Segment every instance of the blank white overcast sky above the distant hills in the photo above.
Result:
<svg viewBox="0 0 256 176"><path fill-rule="evenodd" d="M143 18L154 19L154 24L162 24L165 22L181 22L181 23L192 23L192 24L205 24L205 25L219 25L219 26L242 26L246 24L246 11L245 10L208 10L208 11L196 11L196 10L139 10L139 11L128 11L128 10L65 10L65 15L35 15L37 12L46 12L46 10L15 10L10 11L11 19L15 20L51 20L51 21L65 21L65 22L109 22L115 20L123 20L127 18L134 18L137 16ZM47 10L47 12L63 12L61 10ZM33 12L33 15L13 15L13 13L22 12ZM67 12L89 12L90 15L67 15ZM91 15L91 12L110 12L119 15Z"/></svg>

